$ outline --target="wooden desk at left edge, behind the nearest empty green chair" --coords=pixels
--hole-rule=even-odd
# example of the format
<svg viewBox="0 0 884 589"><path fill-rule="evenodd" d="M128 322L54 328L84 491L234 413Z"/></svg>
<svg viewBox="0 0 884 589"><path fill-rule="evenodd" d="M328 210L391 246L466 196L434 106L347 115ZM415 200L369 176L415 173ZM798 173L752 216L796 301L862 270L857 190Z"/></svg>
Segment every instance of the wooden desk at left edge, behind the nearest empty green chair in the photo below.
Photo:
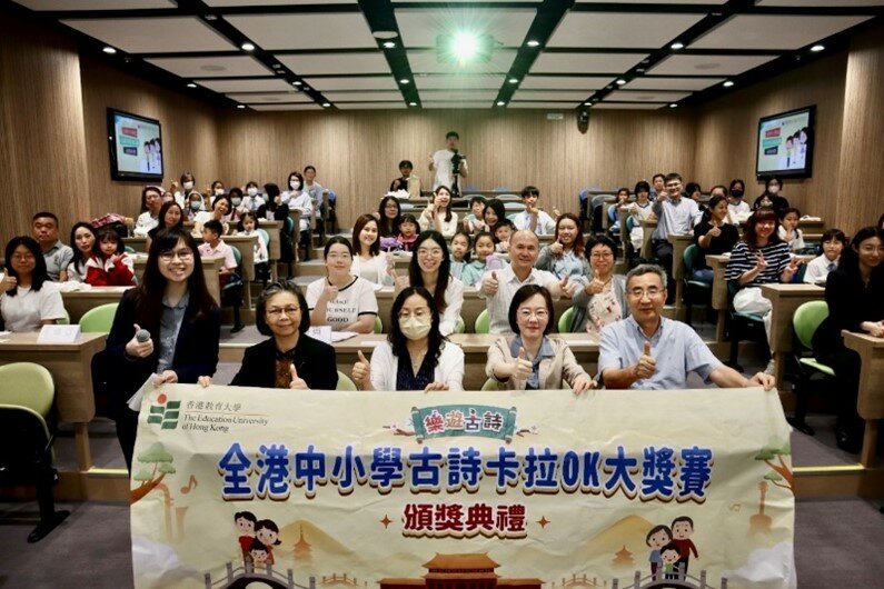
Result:
<svg viewBox="0 0 884 589"><path fill-rule="evenodd" d="M96 416L92 396L92 356L105 349L107 333L82 333L76 343L37 343L38 332L10 333L0 341L0 365L36 362L46 367L56 385L61 421L73 423L77 461L81 471L92 467L88 422Z"/></svg>

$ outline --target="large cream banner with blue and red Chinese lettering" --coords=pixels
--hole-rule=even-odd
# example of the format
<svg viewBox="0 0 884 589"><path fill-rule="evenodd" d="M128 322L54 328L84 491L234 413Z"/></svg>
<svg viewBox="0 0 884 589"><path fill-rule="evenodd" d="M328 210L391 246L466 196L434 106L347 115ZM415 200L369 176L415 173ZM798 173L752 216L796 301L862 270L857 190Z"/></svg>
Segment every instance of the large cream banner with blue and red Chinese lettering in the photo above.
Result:
<svg viewBox="0 0 884 589"><path fill-rule="evenodd" d="M788 436L761 389L163 386L132 465L135 583L795 587Z"/></svg>

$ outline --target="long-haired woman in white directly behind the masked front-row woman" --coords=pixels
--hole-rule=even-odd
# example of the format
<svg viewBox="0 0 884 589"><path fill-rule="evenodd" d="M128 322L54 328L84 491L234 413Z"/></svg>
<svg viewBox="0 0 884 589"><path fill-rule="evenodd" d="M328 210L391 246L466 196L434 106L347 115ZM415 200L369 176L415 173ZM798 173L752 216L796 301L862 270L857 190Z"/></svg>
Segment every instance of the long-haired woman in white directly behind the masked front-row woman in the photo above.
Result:
<svg viewBox="0 0 884 589"><path fill-rule="evenodd" d="M454 333L464 307L464 283L451 276L448 244L438 231L424 231L417 236L413 251L408 277L395 277L396 288L410 284L427 289L443 313L439 322L441 335Z"/></svg>

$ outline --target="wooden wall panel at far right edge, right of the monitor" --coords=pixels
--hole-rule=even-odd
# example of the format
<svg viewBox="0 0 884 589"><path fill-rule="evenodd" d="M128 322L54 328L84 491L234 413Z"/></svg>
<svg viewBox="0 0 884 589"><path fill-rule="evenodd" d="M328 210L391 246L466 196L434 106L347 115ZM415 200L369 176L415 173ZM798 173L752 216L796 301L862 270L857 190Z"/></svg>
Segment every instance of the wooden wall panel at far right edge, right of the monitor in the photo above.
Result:
<svg viewBox="0 0 884 589"><path fill-rule="evenodd" d="M884 27L852 40L844 102L836 216L854 232L884 213Z"/></svg>

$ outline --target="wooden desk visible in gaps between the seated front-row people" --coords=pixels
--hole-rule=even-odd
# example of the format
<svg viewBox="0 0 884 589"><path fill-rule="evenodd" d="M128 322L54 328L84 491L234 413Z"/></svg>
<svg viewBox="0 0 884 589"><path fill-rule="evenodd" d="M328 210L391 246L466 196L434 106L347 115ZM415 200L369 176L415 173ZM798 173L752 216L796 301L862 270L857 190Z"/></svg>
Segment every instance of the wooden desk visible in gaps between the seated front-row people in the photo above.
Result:
<svg viewBox="0 0 884 589"><path fill-rule="evenodd" d="M464 390L480 390L485 385L488 348L500 337L491 333L454 333L449 337L453 343L460 346L464 350ZM586 333L564 333L552 337L567 341L577 362L590 376L594 376L595 365L598 362L598 341L595 338ZM357 360L356 352L361 351L370 361L375 346L386 339L386 335L369 333L335 343L338 369L350 376L352 365Z"/></svg>

